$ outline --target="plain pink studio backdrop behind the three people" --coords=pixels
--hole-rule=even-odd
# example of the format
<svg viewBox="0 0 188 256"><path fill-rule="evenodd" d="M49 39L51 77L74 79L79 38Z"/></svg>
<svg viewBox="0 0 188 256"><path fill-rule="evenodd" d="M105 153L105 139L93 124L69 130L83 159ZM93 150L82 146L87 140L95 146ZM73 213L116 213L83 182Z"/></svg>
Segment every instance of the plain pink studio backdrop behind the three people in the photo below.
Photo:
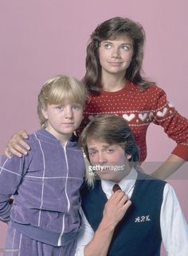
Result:
<svg viewBox="0 0 188 256"><path fill-rule="evenodd" d="M96 25L114 16L140 22L147 34L143 68L165 89L178 112L187 116L188 36L186 0L17 0L0 3L0 153L21 128L38 128L37 94L59 73L84 76L85 48ZM146 168L155 170L175 144L163 128L148 130ZM188 219L187 163L168 181ZM6 225L0 223L0 248ZM1 253L0 253L1 254Z"/></svg>

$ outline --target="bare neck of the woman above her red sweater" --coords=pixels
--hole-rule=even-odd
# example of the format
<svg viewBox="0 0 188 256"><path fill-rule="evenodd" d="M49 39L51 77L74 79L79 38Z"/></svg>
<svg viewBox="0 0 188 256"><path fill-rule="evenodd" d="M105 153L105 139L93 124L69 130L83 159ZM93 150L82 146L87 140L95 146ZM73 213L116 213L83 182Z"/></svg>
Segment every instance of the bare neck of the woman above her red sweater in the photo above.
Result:
<svg viewBox="0 0 188 256"><path fill-rule="evenodd" d="M126 82L127 81L124 77L124 74L122 74L121 76L119 76L119 74L108 74L102 76L102 85L104 91L117 92L124 88Z"/></svg>

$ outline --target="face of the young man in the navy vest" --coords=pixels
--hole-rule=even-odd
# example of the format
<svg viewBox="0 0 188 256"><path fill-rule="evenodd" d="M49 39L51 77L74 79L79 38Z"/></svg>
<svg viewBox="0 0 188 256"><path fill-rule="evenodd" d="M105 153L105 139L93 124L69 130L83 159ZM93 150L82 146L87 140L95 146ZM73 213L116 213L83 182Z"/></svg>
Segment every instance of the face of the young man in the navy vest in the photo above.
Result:
<svg viewBox="0 0 188 256"><path fill-rule="evenodd" d="M128 159L124 149L119 144L108 144L97 140L88 140L88 156L92 170L100 179L111 180L118 183L130 171Z"/></svg>

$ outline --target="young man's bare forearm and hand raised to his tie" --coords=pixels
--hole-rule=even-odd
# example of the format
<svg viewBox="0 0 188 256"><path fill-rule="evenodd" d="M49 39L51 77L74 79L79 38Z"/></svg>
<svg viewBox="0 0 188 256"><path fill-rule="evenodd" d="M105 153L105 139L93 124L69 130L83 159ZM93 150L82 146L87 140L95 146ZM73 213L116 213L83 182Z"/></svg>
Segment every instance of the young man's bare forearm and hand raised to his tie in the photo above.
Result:
<svg viewBox="0 0 188 256"><path fill-rule="evenodd" d="M130 207L130 205L131 201L127 200L127 195L125 195L123 191L116 191L116 193L112 194L104 207L103 219L101 220L101 223L95 234L93 235L91 241L88 242L88 244L84 247L85 244L81 245L81 238L78 238L78 245L82 247L82 249L80 249L80 252L83 252L84 247L84 254L80 254L79 248L77 248L76 255L106 256L108 254L108 248L112 241L112 235L114 233L116 225L123 218L124 214L127 211L127 208ZM86 230L88 230L87 227ZM82 236L86 237L86 235L84 235L84 231L82 232ZM91 234L92 232L90 231L90 237Z"/></svg>

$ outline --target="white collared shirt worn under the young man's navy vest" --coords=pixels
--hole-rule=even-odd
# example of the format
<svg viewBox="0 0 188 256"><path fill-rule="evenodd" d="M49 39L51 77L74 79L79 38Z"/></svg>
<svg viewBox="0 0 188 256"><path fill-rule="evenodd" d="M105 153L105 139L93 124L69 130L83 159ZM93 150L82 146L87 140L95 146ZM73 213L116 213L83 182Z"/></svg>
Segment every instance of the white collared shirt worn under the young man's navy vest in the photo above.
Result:
<svg viewBox="0 0 188 256"><path fill-rule="evenodd" d="M131 198L135 187L137 172L134 168L119 182L122 191ZM102 189L107 199L112 195L112 187L115 183L108 180L101 180ZM84 256L84 247L92 240L94 231L89 225L84 212L80 209L82 226L78 235L75 256ZM187 256L188 255L188 226L182 214L182 209L178 203L173 187L166 183L163 191L163 203L160 213L160 227L163 238L163 245L168 256Z"/></svg>

